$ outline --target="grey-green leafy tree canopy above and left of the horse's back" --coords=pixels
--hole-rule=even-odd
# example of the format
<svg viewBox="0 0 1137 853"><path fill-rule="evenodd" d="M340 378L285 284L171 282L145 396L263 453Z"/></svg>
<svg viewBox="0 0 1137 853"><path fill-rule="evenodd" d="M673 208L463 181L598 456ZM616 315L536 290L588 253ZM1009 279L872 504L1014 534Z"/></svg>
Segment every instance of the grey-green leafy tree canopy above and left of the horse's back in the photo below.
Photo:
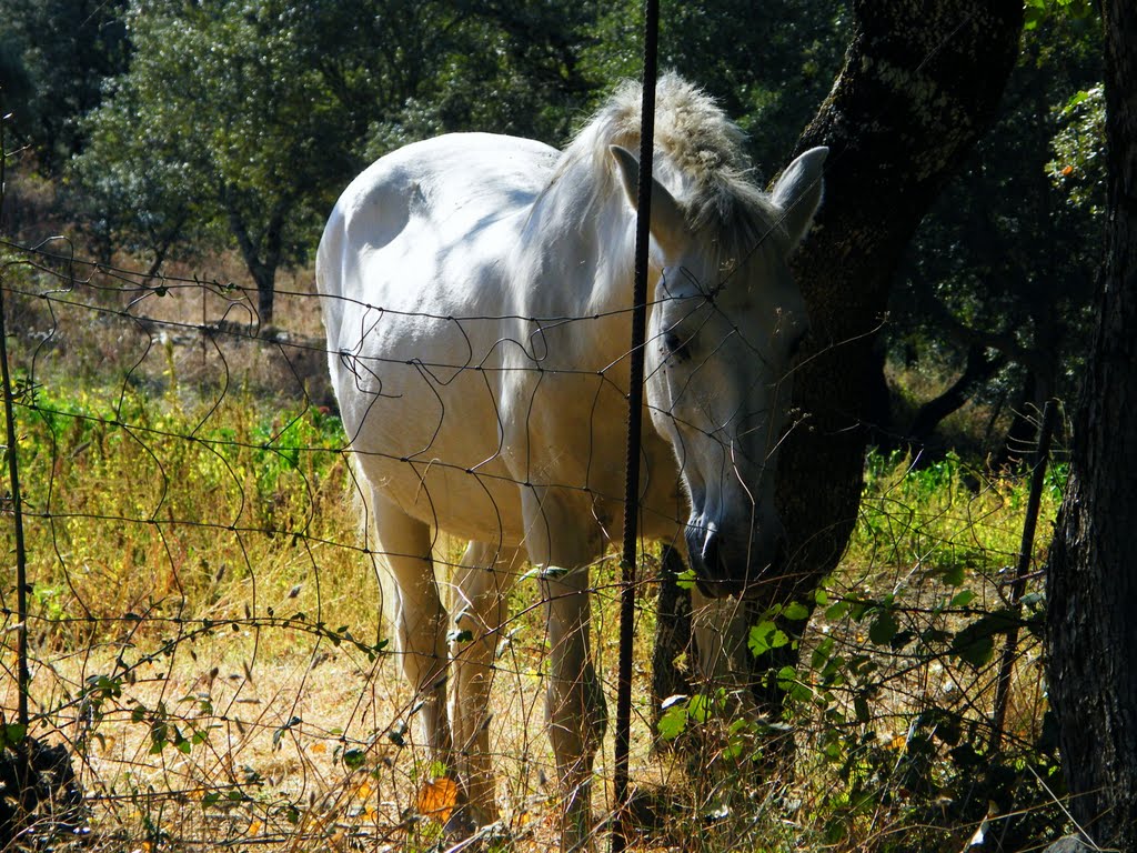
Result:
<svg viewBox="0 0 1137 853"><path fill-rule="evenodd" d="M271 322L277 270L305 263L366 158L447 130L564 131L571 110L546 92L587 86L542 9L135 0L130 66L80 122L78 209L101 245L153 267L231 241Z"/></svg>

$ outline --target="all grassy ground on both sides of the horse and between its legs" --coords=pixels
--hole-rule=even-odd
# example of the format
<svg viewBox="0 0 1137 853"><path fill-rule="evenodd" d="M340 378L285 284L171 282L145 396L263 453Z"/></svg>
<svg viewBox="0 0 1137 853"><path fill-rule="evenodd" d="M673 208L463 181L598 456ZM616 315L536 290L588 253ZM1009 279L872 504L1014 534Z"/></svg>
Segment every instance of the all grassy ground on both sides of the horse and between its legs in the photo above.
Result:
<svg viewBox="0 0 1137 853"><path fill-rule="evenodd" d="M27 802L36 819L7 846L445 847L455 800L425 757L422 701L389 641L383 555L360 532L360 483L307 280L277 292L266 328L225 280L141 275L75 257L61 239L3 242L0 254L16 414L6 453L25 472L28 578L26 623L13 575L0 587L0 712L8 748L24 734L16 641L26 630L26 735L43 745L51 789ZM1036 624L1037 579L1021 607L1011 601L1021 480L881 457L866 480L841 569L813 601L752 619L744 637L755 655L802 652L799 665L763 676L789 697L782 718L740 713L735 685L699 681L686 645L662 659L686 679L683 695L659 707L669 697L653 696L647 662L662 573L645 547L631 762L642 848L760 837L883 847L915 823L957 850L989 801L1037 813L1037 800L1015 801L979 772L990 762L994 652L1023 613ZM1061 472L1048 480L1044 517L1060 483ZM438 536L433 546L447 589L465 544ZM594 566L591 581L609 706L616 562ZM530 568L509 571L523 582L491 665L501 823L489 843L545 850L558 802L540 698L548 639ZM810 628L787 633L786 620L802 626L808 611ZM1044 693L1039 646L1024 639L1004 748L1045 787ZM796 743L796 770L772 769L771 736ZM612 806L607 754L598 823Z"/></svg>

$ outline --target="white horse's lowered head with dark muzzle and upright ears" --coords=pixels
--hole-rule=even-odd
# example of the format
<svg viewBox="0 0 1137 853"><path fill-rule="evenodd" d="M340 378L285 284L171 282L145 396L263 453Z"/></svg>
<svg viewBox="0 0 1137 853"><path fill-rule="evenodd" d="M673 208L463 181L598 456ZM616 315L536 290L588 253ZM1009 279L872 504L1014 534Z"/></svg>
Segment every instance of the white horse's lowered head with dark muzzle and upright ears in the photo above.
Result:
<svg viewBox="0 0 1137 853"><path fill-rule="evenodd" d="M612 151L634 199L638 163ZM689 562L713 597L745 595L785 562L777 450L791 362L808 329L789 257L821 201L827 152L794 160L770 196L735 174L712 182L712 198L692 197L681 180L670 181L674 193L659 180L653 187L646 396L690 500Z"/></svg>

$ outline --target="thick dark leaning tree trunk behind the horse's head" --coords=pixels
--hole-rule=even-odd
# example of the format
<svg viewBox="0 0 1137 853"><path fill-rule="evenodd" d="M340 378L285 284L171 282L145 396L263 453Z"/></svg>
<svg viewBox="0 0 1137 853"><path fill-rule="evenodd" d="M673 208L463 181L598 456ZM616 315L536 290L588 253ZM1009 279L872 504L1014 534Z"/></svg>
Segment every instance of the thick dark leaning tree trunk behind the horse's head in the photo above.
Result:
<svg viewBox="0 0 1137 853"><path fill-rule="evenodd" d="M877 334L901 254L995 118L1022 27L1019 0L856 0L845 67L797 150L828 146L825 198L795 259L808 351L799 423L779 463L791 545L766 601L832 571L861 499Z"/></svg>

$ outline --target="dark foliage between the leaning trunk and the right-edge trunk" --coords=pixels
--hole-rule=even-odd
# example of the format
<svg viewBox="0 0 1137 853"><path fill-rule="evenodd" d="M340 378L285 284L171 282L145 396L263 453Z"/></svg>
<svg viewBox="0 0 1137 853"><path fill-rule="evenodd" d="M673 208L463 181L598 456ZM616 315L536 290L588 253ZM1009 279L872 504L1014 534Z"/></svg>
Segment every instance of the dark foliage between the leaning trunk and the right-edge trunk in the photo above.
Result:
<svg viewBox="0 0 1137 853"><path fill-rule="evenodd" d="M997 124L913 239L889 306L896 363L958 370L972 387L956 406L978 390L1004 409L1040 409L1069 396L1085 351L1103 197L1101 135L1082 115L1097 100L1101 44L1085 15L1031 23ZM949 412L928 406L891 428L923 444Z"/></svg>

